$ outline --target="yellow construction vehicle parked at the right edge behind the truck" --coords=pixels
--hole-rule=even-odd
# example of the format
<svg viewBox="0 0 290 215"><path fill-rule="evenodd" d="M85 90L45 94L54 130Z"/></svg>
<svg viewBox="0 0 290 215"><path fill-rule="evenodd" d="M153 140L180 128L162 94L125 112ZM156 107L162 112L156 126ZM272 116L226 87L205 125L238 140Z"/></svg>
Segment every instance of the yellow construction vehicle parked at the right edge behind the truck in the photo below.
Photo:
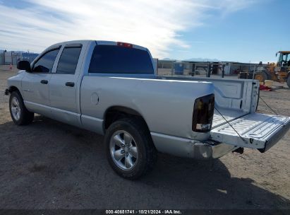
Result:
<svg viewBox="0 0 290 215"><path fill-rule="evenodd" d="M255 79L265 83L265 80L278 81L280 83L287 83L290 88L290 51L279 51L278 62L268 63L267 66L260 65L254 71Z"/></svg>

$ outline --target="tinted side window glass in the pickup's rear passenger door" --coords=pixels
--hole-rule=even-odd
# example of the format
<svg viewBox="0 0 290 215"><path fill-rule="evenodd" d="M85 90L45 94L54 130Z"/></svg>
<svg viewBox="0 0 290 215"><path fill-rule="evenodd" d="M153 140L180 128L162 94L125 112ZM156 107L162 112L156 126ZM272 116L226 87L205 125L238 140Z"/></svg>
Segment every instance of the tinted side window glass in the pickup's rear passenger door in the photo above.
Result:
<svg viewBox="0 0 290 215"><path fill-rule="evenodd" d="M80 57L81 45L71 45L64 47L61 53L59 64L56 69L57 74L75 74L75 69Z"/></svg>

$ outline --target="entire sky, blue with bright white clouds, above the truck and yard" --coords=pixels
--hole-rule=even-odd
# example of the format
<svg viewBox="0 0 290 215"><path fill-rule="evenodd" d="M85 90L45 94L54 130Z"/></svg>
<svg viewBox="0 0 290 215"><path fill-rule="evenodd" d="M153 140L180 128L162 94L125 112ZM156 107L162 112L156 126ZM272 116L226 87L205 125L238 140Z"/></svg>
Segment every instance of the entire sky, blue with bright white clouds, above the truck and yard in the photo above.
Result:
<svg viewBox="0 0 290 215"><path fill-rule="evenodd" d="M277 62L290 50L288 0L0 0L0 50L67 40L147 47L152 57Z"/></svg>

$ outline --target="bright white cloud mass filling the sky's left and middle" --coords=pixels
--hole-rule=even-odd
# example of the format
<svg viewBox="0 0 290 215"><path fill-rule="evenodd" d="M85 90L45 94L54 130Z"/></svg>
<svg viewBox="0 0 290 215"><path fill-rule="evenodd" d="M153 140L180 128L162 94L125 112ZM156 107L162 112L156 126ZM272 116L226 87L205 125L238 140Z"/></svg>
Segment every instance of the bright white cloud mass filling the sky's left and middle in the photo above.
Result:
<svg viewBox="0 0 290 215"><path fill-rule="evenodd" d="M22 1L23 3L23 1ZM25 0L0 3L0 48L40 52L66 40L114 40L148 47L165 57L171 47L190 47L182 33L203 25L210 11L236 11L239 0Z"/></svg>

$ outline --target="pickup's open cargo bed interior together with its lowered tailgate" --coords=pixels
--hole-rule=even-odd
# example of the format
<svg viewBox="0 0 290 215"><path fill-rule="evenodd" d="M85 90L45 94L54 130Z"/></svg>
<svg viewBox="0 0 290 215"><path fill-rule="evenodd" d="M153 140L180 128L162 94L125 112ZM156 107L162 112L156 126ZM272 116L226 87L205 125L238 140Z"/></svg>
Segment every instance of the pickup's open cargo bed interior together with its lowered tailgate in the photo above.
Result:
<svg viewBox="0 0 290 215"><path fill-rule="evenodd" d="M195 77L166 79L209 81L214 84L216 110L210 131L210 139L213 141L265 152L274 146L290 127L289 117L255 112L258 105L256 80Z"/></svg>

